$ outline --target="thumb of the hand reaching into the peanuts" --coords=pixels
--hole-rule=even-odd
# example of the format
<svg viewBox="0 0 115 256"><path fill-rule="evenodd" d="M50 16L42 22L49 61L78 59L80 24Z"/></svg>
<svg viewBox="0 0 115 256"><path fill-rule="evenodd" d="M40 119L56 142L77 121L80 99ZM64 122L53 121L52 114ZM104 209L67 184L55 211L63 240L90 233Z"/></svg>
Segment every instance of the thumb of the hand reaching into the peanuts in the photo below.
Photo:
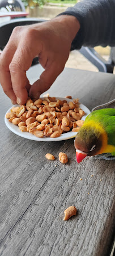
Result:
<svg viewBox="0 0 115 256"><path fill-rule="evenodd" d="M44 70L44 72L42 72L40 75L40 79L31 86L29 96L32 99L38 99L40 94L44 93L44 91L47 91L50 88L63 69L64 65L56 64L56 62L53 63L49 68L46 68L46 70Z"/></svg>

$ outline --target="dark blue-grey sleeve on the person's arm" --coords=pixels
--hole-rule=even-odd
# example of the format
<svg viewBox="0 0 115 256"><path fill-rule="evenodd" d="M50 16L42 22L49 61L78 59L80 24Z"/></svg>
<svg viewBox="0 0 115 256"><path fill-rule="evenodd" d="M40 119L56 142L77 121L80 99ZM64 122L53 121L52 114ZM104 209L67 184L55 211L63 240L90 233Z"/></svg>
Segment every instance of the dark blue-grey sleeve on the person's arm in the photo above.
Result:
<svg viewBox="0 0 115 256"><path fill-rule="evenodd" d="M80 30L71 49L83 46L115 46L115 0L84 0L60 15L73 15Z"/></svg>

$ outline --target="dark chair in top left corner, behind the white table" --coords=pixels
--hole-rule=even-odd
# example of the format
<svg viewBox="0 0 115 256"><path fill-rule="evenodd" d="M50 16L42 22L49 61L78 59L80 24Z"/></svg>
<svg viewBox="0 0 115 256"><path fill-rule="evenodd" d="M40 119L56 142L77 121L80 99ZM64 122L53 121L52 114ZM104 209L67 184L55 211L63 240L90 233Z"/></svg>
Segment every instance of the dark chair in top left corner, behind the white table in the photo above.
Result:
<svg viewBox="0 0 115 256"><path fill-rule="evenodd" d="M20 0L0 0L0 11L25 11L25 7Z"/></svg>

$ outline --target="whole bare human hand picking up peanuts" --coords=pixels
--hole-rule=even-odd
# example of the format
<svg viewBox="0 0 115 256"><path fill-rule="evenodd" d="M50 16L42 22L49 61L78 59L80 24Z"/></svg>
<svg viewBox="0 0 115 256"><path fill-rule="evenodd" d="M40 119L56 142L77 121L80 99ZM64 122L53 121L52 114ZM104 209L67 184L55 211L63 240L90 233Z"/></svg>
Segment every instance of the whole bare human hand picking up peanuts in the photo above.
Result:
<svg viewBox="0 0 115 256"><path fill-rule="evenodd" d="M65 66L79 28L78 20L68 15L14 28L0 57L0 82L13 104L25 104L28 93L36 99L49 89ZM26 71L36 56L45 70L31 86Z"/></svg>

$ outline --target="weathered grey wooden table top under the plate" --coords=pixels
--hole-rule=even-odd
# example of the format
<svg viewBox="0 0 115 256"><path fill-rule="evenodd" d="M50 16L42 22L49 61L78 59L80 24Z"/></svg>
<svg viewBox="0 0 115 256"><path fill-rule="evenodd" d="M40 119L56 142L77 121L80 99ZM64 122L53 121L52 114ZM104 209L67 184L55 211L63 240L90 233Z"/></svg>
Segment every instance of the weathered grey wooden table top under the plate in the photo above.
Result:
<svg viewBox="0 0 115 256"><path fill-rule="evenodd" d="M40 66L28 71L31 82L40 72ZM49 93L78 97L91 110L114 98L114 85L112 74L65 69ZM0 93L0 255L108 256L114 231L115 161L87 158L78 164L74 139L37 142L16 136L4 123L10 99L2 89ZM46 160L48 152L56 161ZM58 161L59 152L67 153L69 163ZM63 221L70 205L78 214Z"/></svg>

